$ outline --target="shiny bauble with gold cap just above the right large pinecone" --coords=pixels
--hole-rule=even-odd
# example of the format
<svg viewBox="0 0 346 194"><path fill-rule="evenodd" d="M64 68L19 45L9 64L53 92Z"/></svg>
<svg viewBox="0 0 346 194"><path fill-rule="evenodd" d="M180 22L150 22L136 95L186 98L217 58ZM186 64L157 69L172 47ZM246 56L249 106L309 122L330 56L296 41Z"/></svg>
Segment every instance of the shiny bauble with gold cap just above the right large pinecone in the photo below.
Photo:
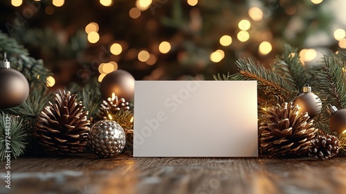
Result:
<svg viewBox="0 0 346 194"><path fill-rule="evenodd" d="M322 102L320 98L311 92L311 87L309 87L307 84L304 85L302 91L303 93L294 100L294 104L299 105L300 112L307 112L310 118L320 114L322 109Z"/></svg>

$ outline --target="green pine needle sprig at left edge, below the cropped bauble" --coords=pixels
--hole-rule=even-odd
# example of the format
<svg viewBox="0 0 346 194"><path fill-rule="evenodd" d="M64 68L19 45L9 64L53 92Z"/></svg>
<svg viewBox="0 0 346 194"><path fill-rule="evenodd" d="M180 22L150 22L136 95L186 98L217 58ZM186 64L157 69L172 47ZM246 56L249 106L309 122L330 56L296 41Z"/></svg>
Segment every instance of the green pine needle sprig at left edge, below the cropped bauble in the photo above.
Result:
<svg viewBox="0 0 346 194"><path fill-rule="evenodd" d="M6 123L10 123L7 125ZM0 113L0 160L6 159L6 151L12 151L15 158L24 154L26 148L26 133L22 125L23 119ZM10 126L10 128L8 128ZM6 138L9 136L10 138ZM9 144L7 144L9 143Z"/></svg>

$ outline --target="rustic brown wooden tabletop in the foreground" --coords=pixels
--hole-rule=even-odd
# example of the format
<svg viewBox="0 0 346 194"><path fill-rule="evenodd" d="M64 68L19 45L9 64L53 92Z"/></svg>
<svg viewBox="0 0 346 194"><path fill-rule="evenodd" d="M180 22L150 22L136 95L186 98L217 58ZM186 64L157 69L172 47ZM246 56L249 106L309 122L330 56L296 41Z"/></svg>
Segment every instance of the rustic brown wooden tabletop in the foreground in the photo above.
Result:
<svg viewBox="0 0 346 194"><path fill-rule="evenodd" d="M6 176L1 162L1 179ZM0 193L346 193L346 158L21 157Z"/></svg>

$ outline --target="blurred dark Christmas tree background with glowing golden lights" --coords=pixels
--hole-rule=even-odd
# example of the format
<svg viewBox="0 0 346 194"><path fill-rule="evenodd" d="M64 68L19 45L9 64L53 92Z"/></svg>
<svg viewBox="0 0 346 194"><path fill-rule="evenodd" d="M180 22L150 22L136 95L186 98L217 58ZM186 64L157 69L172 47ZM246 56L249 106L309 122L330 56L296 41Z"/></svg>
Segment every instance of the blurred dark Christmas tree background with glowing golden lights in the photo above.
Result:
<svg viewBox="0 0 346 194"><path fill-rule="evenodd" d="M325 1L12 0L1 2L1 30L54 73L55 87L84 84L116 69L136 80L211 80L236 73L249 57L268 67L284 44L316 58L313 47L336 51L333 10ZM342 27L342 26L341 26ZM339 27L339 28L341 28ZM338 39L345 37L340 29ZM320 39L319 39L320 40ZM310 49L303 49L310 48ZM53 78L51 78L53 79Z"/></svg>

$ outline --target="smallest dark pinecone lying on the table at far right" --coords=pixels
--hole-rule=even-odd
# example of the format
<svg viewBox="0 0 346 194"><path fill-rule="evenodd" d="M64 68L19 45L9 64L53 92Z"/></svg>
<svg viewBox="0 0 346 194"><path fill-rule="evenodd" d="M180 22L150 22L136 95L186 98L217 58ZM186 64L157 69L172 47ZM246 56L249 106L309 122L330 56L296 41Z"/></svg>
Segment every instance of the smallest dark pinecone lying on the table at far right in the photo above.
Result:
<svg viewBox="0 0 346 194"><path fill-rule="evenodd" d="M313 139L309 148L309 156L316 159L329 159L339 152L339 140L334 135L326 134L325 136L317 136Z"/></svg>

